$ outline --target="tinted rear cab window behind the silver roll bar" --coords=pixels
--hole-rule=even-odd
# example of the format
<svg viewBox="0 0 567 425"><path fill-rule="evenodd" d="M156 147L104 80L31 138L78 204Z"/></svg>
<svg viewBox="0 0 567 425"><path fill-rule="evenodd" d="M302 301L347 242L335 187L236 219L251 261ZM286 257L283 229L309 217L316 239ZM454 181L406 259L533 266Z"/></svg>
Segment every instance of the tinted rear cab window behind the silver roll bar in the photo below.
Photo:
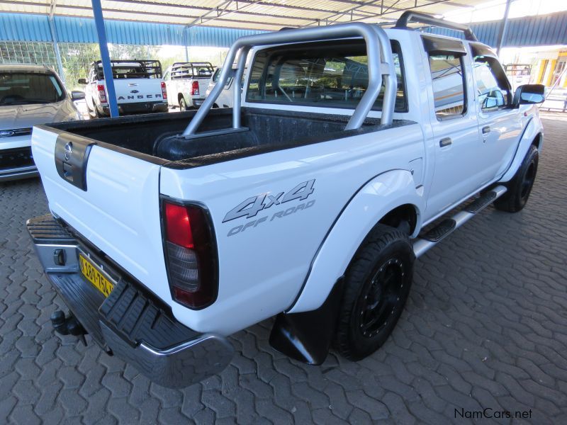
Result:
<svg viewBox="0 0 567 425"><path fill-rule="evenodd" d="M398 93L395 111L406 111L403 60L392 43ZM363 41L286 45L254 57L247 101L355 108L368 88L368 58ZM382 106L384 85L374 109Z"/></svg>

